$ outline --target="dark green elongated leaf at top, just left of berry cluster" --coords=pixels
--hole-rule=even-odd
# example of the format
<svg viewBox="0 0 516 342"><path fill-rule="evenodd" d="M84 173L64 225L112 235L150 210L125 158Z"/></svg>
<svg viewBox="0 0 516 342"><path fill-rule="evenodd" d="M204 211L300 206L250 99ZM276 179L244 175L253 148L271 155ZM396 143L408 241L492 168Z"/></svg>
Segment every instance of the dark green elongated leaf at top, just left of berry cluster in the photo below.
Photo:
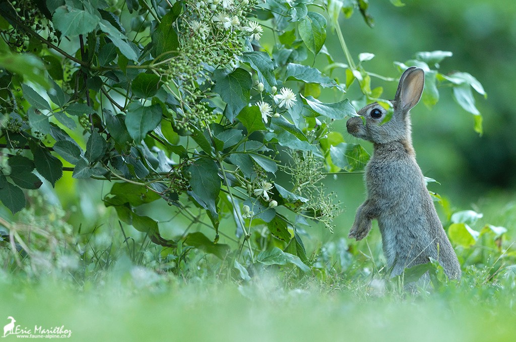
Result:
<svg viewBox="0 0 516 342"><path fill-rule="evenodd" d="M181 3L176 2L172 9L163 16L156 30L152 33L152 42L156 47L156 58L166 59L179 49L178 34L174 31L174 22L181 13ZM163 55L163 56L162 56Z"/></svg>

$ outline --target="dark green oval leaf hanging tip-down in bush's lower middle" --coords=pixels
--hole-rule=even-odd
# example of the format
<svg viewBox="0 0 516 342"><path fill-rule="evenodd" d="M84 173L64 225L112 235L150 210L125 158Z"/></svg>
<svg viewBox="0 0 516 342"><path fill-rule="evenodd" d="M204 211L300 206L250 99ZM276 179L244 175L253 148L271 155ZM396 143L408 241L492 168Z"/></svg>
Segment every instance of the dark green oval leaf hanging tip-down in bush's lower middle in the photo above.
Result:
<svg viewBox="0 0 516 342"><path fill-rule="evenodd" d="M211 211L212 215L218 215L215 204L220 192L219 167L217 164L211 159L199 158L187 168L187 171L191 174L190 186L192 192L206 204L206 209Z"/></svg>

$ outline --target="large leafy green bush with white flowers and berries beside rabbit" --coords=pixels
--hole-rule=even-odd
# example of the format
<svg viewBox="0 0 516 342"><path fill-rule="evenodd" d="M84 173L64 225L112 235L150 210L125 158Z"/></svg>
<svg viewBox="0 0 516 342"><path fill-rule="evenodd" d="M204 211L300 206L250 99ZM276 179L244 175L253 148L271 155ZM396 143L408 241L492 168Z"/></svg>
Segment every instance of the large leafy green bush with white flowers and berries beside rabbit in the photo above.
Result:
<svg viewBox="0 0 516 342"><path fill-rule="evenodd" d="M219 258L245 246L244 264L308 270L300 227L315 220L331 230L339 209L321 181L368 160L331 124L389 103L372 79L394 79L366 71L372 54L355 63L338 25L354 11L372 25L367 9L363 0L2 2L0 199L15 213L26 207L22 189L42 178L107 180L105 205L177 265L185 246ZM326 49L332 32L345 63ZM470 74L437 70L450 56L395 65L426 71L428 107L450 86L481 133L471 89L485 92ZM350 87L361 97L347 98ZM164 238L139 209L157 200L191 225L207 217L214 233ZM221 224L229 220L236 234ZM218 243L219 229L238 246Z"/></svg>

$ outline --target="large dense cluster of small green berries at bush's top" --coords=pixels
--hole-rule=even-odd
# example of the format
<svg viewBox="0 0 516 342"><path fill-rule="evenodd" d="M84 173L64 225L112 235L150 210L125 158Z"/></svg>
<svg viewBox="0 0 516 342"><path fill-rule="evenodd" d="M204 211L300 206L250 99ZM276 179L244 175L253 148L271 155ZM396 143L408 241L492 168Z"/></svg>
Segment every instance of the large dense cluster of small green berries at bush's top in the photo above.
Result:
<svg viewBox="0 0 516 342"><path fill-rule="evenodd" d="M179 50L160 70L165 85L181 100L174 118L176 127L189 130L190 125L202 127L215 119L207 102L201 101L206 98L206 90L199 88L212 84L211 67L236 64L246 38L261 38L260 24L246 19L257 4L257 0L184 2L185 12L177 21Z"/></svg>

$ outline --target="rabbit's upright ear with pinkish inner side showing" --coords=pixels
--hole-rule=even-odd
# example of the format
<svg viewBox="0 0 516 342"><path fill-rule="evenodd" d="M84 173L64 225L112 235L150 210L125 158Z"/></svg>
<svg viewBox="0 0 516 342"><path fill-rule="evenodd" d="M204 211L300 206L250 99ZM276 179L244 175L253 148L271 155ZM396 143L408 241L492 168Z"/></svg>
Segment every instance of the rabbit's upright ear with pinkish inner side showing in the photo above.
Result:
<svg viewBox="0 0 516 342"><path fill-rule="evenodd" d="M398 90L394 97L396 106L404 111L417 105L425 87L425 72L423 69L411 66L399 79Z"/></svg>

